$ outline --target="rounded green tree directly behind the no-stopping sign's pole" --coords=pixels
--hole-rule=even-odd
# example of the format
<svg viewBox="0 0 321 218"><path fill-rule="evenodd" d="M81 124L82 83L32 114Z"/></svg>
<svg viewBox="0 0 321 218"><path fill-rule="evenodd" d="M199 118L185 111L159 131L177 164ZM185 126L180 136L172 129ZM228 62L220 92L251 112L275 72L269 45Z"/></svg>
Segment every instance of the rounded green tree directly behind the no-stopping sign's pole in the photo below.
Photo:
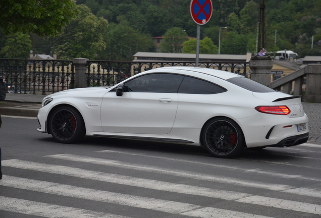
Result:
<svg viewBox="0 0 321 218"><path fill-rule="evenodd" d="M196 39L192 38L184 42L183 53L196 53ZM213 44L212 40L205 37L199 41L199 53L216 54L219 53L218 47Z"/></svg>

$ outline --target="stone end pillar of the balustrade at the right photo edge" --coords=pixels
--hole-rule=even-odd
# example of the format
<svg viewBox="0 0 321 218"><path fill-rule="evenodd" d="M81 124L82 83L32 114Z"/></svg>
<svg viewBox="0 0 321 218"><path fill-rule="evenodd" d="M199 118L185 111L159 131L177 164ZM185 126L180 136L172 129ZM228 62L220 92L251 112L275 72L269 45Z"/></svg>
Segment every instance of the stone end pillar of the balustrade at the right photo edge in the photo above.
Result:
<svg viewBox="0 0 321 218"><path fill-rule="evenodd" d="M321 64L308 64L305 67L306 89L304 101L321 102Z"/></svg>

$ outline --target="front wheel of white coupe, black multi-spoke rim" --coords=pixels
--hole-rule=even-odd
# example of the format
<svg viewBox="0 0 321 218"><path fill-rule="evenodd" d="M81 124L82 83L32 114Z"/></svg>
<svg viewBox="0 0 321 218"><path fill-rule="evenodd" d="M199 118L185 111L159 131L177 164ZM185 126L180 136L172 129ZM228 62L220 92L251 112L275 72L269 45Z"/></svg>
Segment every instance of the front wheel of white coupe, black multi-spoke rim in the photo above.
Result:
<svg viewBox="0 0 321 218"><path fill-rule="evenodd" d="M52 112L49 131L52 137L61 143L75 143L86 133L82 116L75 108L68 105L60 106Z"/></svg>

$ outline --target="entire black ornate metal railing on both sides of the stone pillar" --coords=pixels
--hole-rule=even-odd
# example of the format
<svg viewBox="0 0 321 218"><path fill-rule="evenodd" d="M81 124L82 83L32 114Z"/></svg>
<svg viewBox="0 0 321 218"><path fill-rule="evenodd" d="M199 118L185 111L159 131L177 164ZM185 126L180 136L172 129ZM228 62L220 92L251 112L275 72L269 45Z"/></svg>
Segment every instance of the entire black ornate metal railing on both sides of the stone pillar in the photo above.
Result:
<svg viewBox="0 0 321 218"><path fill-rule="evenodd" d="M247 76L248 62L200 62L199 67L229 71ZM190 66L194 62L121 62L87 61L84 80L87 87L112 86L146 70ZM77 64L68 60L0 59L0 77L6 78L7 90L21 94L50 94L81 87L76 84Z"/></svg>

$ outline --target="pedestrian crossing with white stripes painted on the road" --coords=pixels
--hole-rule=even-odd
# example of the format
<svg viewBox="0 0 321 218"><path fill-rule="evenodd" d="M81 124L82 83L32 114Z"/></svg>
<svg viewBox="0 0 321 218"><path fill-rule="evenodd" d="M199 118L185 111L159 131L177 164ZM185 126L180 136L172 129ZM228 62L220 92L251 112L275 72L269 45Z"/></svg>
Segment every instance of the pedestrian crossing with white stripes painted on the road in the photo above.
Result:
<svg viewBox="0 0 321 218"><path fill-rule="evenodd" d="M313 147L311 144L308 144L308 146ZM278 215L280 212L290 215L287 217L291 217L293 214L299 214L295 217L318 217L321 215L321 203L318 203L321 202L321 188L318 186L320 184L318 178L276 173L273 171L264 172L259 169L242 169L241 167L220 165L218 163L192 161L188 159L119 150L100 150L92 153L121 153L122 155L128 156L135 155L138 158L148 157L164 159L173 161L174 163L188 162L190 164L204 165L219 169L217 172L220 172L220 169L229 169L232 172L240 171L270 178L274 177L277 179L296 179L311 183L314 182L316 185L314 184L314 187L296 187L271 181L261 182L222 176L217 172L208 174L205 172L194 172L192 170L183 171L174 168L171 169L134 163L130 160L120 161L112 158L94 157L95 155L91 155L90 153L86 156L63 153L43 156L41 158L42 161L22 159L7 159L2 161L2 166L7 169L15 169L16 171L23 172L30 171L39 176L37 176L37 178L23 178L14 175L4 175L3 180L0 181L0 217L10 218L1 215L4 211L14 214L30 215L30 217L40 216L49 218L284 217ZM69 163L69 166L63 163ZM277 163L276 161L274 164L282 163ZM90 168L83 169L80 166L92 166L92 169L100 170L110 168L119 169L117 172L122 173L89 170ZM314 168L319 172L318 170L320 169L318 167ZM173 182L144 178L143 176L138 177L135 176L135 174L126 175L126 172L128 171L142 172L147 175L156 174L158 177L171 176L180 178L183 181L193 180L195 182L185 184L184 182L180 183L176 180L173 180ZM43 175L43 177L41 177L41 175ZM64 180L52 181L47 175L56 175L61 178L75 178L77 181L82 182L68 184L68 182ZM90 184L99 183L101 185L80 185L88 181L91 181L89 182ZM206 185L202 185L203 183L215 183L221 184L221 186L218 186L220 188L215 188L216 186L206 187ZM226 186L226 188L221 189L222 184ZM137 189L138 191L131 193L118 192L115 189L109 190L109 186L126 187L132 190ZM230 187L237 188L230 190ZM75 204L74 206L63 205L63 203L60 203L60 201L57 200L48 203L40 198L37 199L33 197L30 197L30 199L28 197L21 197L20 199L20 197L17 198L8 193L2 194L1 190L4 188L18 190L20 193L33 193L32 196L44 195L55 196L55 199L78 199L81 200L81 202L90 202L90 205L93 204L92 202L106 204L107 209L95 210L93 209L95 207L92 207L91 209L90 207L83 208L82 205L79 204ZM246 191L248 188L261 190L260 193L265 194L256 194L255 191L248 192ZM167 193L169 197L158 196L157 193ZM175 197L176 195L180 197ZM295 198L294 196L301 197ZM197 200L193 201L194 198ZM300 201L294 199L300 199ZM229 209L219 202L227 202L228 204L235 206L233 209ZM123 208L123 210L126 210L127 212L120 209L108 209L112 207ZM259 207L259 209L256 210L256 207ZM153 213L155 213L155 216L150 215Z"/></svg>

